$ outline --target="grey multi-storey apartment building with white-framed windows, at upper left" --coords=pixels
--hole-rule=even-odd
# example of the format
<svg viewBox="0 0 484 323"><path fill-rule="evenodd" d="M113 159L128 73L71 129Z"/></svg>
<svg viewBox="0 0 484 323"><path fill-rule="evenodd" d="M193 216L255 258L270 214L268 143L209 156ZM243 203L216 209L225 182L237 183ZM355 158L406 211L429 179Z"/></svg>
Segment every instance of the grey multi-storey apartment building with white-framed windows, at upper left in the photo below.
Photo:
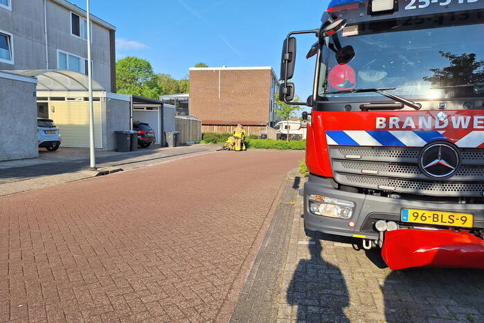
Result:
<svg viewBox="0 0 484 323"><path fill-rule="evenodd" d="M91 15L93 79L116 92L116 28ZM65 0L0 0L0 71L87 74L86 12Z"/></svg>

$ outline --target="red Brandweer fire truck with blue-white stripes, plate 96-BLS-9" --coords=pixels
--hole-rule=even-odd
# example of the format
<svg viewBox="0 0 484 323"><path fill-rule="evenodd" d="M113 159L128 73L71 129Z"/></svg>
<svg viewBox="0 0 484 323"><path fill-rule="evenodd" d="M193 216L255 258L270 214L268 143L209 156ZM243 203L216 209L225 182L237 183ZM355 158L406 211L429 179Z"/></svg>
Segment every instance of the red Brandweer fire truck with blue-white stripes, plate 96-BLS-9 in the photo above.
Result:
<svg viewBox="0 0 484 323"><path fill-rule="evenodd" d="M307 233L391 269L484 268L484 0L333 0L321 21L289 33L280 73L280 100L311 108ZM294 102L304 34L313 93Z"/></svg>

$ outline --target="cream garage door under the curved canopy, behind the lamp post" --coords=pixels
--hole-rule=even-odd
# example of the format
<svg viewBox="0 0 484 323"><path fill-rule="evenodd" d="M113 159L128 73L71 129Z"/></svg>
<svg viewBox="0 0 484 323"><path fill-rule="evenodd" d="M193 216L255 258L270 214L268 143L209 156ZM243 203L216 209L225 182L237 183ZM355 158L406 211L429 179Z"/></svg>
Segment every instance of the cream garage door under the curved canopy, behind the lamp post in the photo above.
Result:
<svg viewBox="0 0 484 323"><path fill-rule="evenodd" d="M94 104L94 140L102 148L100 102ZM49 117L59 127L63 147L89 147L89 102L50 102Z"/></svg>

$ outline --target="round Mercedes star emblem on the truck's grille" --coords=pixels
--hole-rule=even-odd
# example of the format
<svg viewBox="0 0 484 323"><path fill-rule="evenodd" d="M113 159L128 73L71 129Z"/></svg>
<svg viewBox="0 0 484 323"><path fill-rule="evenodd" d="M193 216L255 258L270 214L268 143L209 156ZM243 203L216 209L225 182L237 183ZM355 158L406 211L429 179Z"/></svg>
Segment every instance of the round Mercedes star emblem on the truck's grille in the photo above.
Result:
<svg viewBox="0 0 484 323"><path fill-rule="evenodd" d="M419 165L431 178L448 178L458 171L460 153L448 142L433 142L420 153Z"/></svg>

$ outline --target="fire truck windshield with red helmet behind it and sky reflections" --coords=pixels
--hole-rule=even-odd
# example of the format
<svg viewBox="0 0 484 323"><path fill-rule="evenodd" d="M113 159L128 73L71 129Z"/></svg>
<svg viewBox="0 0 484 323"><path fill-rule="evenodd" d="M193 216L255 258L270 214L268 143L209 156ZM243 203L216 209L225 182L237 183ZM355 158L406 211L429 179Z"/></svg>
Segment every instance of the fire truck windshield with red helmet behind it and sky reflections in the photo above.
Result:
<svg viewBox="0 0 484 323"><path fill-rule="evenodd" d="M409 100L484 98L484 16L470 16L461 24L454 15L346 26L325 38L319 96L386 100L350 90L395 88L388 92Z"/></svg>

